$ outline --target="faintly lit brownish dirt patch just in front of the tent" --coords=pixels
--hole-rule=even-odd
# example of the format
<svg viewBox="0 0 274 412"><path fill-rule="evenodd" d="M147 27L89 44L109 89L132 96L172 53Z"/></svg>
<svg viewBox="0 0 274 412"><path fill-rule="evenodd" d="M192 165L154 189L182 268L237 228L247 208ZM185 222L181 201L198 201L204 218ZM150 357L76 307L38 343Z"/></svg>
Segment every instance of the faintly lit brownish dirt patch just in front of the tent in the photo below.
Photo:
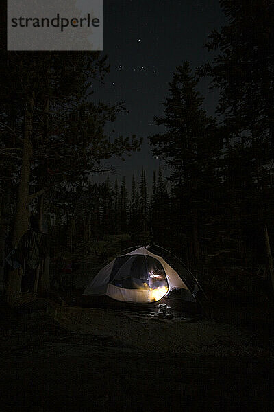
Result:
<svg viewBox="0 0 274 412"><path fill-rule="evenodd" d="M271 349L245 328L183 314L167 320L153 312L61 307L55 310L55 320L69 330L113 336L146 352L267 356Z"/></svg>

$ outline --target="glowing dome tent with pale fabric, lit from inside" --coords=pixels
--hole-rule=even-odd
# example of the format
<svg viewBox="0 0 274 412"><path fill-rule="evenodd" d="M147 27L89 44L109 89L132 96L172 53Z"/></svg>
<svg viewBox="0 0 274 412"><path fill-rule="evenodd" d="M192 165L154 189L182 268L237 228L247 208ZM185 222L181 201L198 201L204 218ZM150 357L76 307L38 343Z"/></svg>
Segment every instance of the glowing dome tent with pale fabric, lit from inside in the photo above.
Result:
<svg viewBox="0 0 274 412"><path fill-rule="evenodd" d="M201 286L186 266L171 252L156 246L138 247L119 255L84 290L84 295L106 295L136 304L162 297L195 302L201 294Z"/></svg>

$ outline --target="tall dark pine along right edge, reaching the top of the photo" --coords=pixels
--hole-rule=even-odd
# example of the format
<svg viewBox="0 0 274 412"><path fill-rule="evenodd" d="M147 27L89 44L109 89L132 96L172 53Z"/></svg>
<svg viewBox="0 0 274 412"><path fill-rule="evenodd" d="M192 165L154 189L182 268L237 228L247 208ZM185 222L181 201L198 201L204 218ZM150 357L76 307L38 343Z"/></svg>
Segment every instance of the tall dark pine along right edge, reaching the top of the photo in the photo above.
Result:
<svg viewBox="0 0 274 412"><path fill-rule="evenodd" d="M200 72L212 76L212 86L220 90L217 112L229 135L225 230L251 248L255 262L265 257L274 288L274 5L272 0L220 3L228 23L212 32L206 47L218 54Z"/></svg>

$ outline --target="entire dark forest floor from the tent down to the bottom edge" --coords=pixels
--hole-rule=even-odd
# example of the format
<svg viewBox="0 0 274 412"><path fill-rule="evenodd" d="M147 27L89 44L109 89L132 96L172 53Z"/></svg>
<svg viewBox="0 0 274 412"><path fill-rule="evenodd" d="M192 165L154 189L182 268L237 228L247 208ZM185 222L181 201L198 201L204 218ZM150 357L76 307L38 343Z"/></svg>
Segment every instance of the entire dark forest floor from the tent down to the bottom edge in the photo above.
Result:
<svg viewBox="0 0 274 412"><path fill-rule="evenodd" d="M1 313L0 411L271 411L272 337L197 317Z"/></svg>

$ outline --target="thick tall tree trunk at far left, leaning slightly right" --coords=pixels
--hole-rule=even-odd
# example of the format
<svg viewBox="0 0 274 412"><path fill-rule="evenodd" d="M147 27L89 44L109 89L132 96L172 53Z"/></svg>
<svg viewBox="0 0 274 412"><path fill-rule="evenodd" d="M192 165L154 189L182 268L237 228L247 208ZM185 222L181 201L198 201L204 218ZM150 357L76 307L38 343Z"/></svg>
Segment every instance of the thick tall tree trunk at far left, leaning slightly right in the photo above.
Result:
<svg viewBox="0 0 274 412"><path fill-rule="evenodd" d="M18 201L14 218L14 231L12 247L17 247L18 242L27 231L29 221L29 178L32 158L32 128L34 113L34 95L26 100L23 157L21 163L20 183L18 187ZM14 306L20 301L21 271L10 271L5 285L5 300Z"/></svg>

